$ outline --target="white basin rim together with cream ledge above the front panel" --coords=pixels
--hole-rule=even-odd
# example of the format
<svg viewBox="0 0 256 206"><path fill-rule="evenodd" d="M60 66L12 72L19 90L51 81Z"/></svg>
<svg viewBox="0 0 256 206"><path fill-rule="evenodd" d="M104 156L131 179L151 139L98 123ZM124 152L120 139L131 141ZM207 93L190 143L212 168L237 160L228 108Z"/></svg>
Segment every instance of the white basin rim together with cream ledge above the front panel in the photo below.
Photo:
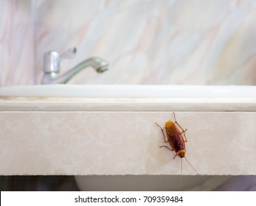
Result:
<svg viewBox="0 0 256 206"><path fill-rule="evenodd" d="M255 110L255 93L253 86L35 85L0 88L0 104L4 110L246 111Z"/></svg>

